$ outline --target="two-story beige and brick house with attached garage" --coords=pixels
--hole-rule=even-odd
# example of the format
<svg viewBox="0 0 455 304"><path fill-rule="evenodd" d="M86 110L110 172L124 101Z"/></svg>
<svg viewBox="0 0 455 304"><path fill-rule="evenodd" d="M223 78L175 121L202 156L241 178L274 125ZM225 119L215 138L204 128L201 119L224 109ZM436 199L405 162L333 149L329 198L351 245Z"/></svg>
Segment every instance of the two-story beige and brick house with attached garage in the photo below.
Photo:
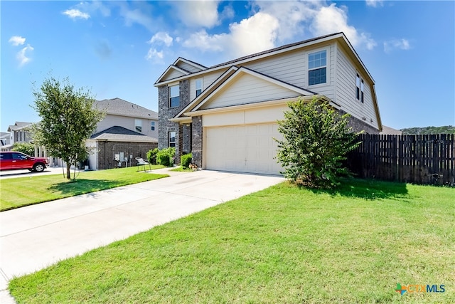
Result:
<svg viewBox="0 0 455 304"><path fill-rule="evenodd" d="M277 120L287 103L324 98L354 130L382 130L375 81L344 33L291 43L210 68L178 58L159 90L159 148L203 169L278 174Z"/></svg>

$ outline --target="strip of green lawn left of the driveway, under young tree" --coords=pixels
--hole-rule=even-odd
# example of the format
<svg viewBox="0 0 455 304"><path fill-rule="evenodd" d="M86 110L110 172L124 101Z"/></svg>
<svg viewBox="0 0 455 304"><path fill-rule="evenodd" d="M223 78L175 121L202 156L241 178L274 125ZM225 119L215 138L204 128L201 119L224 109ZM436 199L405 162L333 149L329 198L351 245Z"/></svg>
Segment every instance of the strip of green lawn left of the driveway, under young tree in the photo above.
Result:
<svg viewBox="0 0 455 304"><path fill-rule="evenodd" d="M153 169L161 167L163 166L153 166ZM31 177L0 179L0 211L167 176L137 172L137 167L128 167L80 172L75 181L68 181L63 174L33 174ZM73 172L71 177L73 178Z"/></svg>

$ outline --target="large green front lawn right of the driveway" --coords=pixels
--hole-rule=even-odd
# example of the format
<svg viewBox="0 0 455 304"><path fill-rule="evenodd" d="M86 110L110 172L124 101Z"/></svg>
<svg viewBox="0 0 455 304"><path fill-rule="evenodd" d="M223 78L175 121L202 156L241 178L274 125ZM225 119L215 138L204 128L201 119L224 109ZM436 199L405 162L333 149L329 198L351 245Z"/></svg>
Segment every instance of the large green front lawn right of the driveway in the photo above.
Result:
<svg viewBox="0 0 455 304"><path fill-rule="evenodd" d="M18 303L455 303L455 189L282 183L70 258ZM445 293L395 292L397 283Z"/></svg>

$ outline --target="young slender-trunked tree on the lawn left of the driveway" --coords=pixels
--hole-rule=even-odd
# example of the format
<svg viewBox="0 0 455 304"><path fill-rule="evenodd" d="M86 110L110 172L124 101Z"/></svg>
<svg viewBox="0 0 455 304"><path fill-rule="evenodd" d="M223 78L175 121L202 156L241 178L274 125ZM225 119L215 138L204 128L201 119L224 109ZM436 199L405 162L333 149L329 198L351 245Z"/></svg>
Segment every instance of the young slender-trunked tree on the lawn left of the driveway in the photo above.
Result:
<svg viewBox="0 0 455 304"><path fill-rule="evenodd" d="M40 90L33 90L32 108L41 122L33 127L33 139L43 145L53 157L66 162L66 178L71 179L71 164L87 159L85 140L96 130L104 113L93 108L95 99L90 92L75 89L65 78L45 79Z"/></svg>

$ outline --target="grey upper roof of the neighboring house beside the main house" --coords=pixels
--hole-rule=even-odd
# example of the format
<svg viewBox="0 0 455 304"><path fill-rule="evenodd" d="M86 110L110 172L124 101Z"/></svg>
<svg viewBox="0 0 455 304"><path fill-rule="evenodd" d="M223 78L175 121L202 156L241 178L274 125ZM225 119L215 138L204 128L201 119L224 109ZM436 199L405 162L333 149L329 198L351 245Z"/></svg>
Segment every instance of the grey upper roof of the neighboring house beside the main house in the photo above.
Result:
<svg viewBox="0 0 455 304"><path fill-rule="evenodd" d="M120 98L95 100L93 105L106 114L158 120L158 113Z"/></svg>

